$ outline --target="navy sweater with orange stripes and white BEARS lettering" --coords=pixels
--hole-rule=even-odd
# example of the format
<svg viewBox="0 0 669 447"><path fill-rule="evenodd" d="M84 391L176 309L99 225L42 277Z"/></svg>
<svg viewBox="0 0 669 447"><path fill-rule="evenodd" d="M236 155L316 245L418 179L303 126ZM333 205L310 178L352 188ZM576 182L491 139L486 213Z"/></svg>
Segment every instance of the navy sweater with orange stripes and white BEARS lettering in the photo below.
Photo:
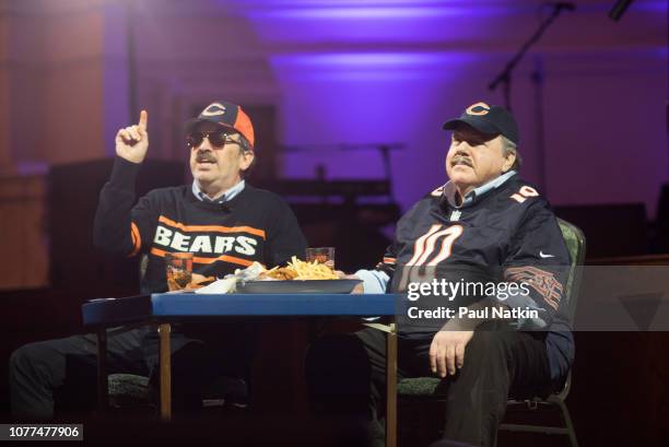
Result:
<svg viewBox="0 0 669 447"><path fill-rule="evenodd" d="M224 203L200 201L191 186L160 188L136 202L140 164L117 157L95 213L94 244L125 256L148 254L142 293L167 290L164 257L192 252L193 273L223 278L258 261L302 258L306 239L287 203L248 184Z"/></svg>

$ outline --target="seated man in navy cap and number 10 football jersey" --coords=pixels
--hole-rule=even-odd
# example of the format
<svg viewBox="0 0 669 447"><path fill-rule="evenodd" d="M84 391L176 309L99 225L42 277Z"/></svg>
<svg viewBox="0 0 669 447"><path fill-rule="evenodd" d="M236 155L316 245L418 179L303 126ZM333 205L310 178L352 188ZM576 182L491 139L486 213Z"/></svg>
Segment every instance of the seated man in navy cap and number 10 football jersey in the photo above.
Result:
<svg viewBox="0 0 669 447"><path fill-rule="evenodd" d="M376 269L355 274L364 293L406 293L433 280L493 284L492 292L460 290L450 296L447 289L425 289L409 304L413 316L398 314L398 377L442 378L444 437L493 446L508 397L548 396L563 386L572 365L564 294L570 256L548 201L518 178L513 116L477 103L444 129L453 131L445 166L449 181L400 219ZM502 289L512 283L520 285L515 294ZM448 306L466 314L416 316L419 309ZM508 314L495 317L493 308ZM469 310L485 309L469 317ZM314 411L366 420L376 427L371 431L375 445L383 445L377 415L384 408L385 365L385 336L375 328L317 341L306 358Z"/></svg>

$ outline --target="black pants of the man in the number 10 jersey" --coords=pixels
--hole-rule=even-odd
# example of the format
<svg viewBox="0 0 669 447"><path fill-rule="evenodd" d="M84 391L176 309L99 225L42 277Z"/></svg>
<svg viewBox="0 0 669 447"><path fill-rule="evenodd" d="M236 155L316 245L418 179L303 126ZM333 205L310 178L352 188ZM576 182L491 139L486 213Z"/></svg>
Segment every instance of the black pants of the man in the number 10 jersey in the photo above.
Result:
<svg viewBox="0 0 669 447"><path fill-rule="evenodd" d="M445 438L493 446L509 396L548 396L554 390L543 333L495 325L485 324L474 331L462 368L441 385L446 392ZM433 376L431 343L432 337L398 339L398 379ZM306 375L315 413L367 421L372 442L382 445L377 414L385 407L384 332L364 329L316 341L307 353Z"/></svg>

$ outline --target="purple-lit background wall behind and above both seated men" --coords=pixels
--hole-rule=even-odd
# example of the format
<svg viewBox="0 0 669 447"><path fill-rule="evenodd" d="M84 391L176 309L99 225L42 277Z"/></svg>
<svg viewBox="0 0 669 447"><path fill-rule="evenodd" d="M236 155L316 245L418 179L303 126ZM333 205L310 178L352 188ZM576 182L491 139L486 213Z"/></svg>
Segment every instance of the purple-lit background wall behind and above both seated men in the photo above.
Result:
<svg viewBox="0 0 669 447"><path fill-rule="evenodd" d="M330 178L380 177L376 152L332 146L403 143L392 152L391 169L406 209L446 179L442 122L478 101L502 103L501 92L486 85L550 13L543 3L136 0L136 101L151 113L150 156L184 156L179 122L195 105L226 97L274 106L284 145L320 146L285 152L280 176L312 177L325 165ZM524 176L544 185L556 204L643 201L653 215L669 177L667 3L635 1L620 22L607 16L610 0L576 4L513 78ZM21 63L2 69L12 113L0 160L22 166L110 154L110 136L139 113L127 110L125 7L31 0L13 9L7 57ZM77 26L59 25L62 16ZM74 38L59 26L81 32ZM538 66L540 90L531 82ZM32 105L42 98L46 130L30 132ZM81 133L83 121L86 143L72 145L69 134ZM38 141L43 136L48 141Z"/></svg>

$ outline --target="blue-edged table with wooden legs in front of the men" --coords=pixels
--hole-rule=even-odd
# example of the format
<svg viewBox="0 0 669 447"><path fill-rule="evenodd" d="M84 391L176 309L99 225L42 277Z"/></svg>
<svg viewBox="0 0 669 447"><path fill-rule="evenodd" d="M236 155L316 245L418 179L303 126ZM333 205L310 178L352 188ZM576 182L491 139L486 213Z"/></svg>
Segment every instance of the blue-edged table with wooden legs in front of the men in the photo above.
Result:
<svg viewBox="0 0 669 447"><path fill-rule="evenodd" d="M156 293L125 298L93 299L82 306L83 322L97 332L98 397L107 402L107 328L154 324L160 334L160 409L165 420L172 417L171 324L185 320L235 316L388 316L396 314L396 295L349 294L227 294ZM395 325L387 341L386 426L397 419L397 336ZM386 445L395 447L396 433L386 432Z"/></svg>

